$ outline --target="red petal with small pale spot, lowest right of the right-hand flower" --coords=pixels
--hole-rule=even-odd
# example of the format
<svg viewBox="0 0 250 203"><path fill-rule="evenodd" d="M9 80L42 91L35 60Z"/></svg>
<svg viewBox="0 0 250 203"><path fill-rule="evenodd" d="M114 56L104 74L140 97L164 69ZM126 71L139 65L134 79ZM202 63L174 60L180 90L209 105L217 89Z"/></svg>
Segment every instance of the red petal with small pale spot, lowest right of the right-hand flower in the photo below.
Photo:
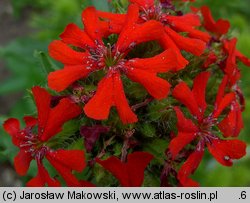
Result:
<svg viewBox="0 0 250 203"><path fill-rule="evenodd" d="M233 159L246 155L246 143L240 140L211 140L207 147L214 158L224 166L231 166Z"/></svg>

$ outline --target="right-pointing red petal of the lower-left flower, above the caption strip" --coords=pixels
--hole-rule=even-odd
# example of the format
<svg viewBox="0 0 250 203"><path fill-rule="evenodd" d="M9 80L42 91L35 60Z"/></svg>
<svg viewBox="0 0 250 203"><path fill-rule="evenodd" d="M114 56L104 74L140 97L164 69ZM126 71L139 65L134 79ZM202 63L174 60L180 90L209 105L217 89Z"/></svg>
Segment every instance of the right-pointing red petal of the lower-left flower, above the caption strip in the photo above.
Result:
<svg viewBox="0 0 250 203"><path fill-rule="evenodd" d="M50 151L47 156L59 162L68 169L82 172L86 167L84 152L81 150L56 150Z"/></svg>

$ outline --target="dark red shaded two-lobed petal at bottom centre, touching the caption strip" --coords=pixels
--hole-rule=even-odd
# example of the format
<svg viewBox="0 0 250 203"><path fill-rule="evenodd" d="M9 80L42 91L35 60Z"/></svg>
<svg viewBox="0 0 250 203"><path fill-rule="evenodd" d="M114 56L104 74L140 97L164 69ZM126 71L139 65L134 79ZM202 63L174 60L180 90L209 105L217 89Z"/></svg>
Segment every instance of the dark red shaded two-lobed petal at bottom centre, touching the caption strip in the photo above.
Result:
<svg viewBox="0 0 250 203"><path fill-rule="evenodd" d="M153 156L147 152L134 152L128 155L126 163L121 162L115 156L102 161L96 159L97 163L111 172L124 187L139 187L144 180L144 170Z"/></svg>

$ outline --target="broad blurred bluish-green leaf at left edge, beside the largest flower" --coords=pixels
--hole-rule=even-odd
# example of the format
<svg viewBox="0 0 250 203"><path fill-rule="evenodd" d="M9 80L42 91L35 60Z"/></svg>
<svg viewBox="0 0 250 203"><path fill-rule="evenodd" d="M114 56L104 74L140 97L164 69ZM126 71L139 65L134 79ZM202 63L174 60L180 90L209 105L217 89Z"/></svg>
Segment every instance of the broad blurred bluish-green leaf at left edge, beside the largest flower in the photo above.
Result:
<svg viewBox="0 0 250 203"><path fill-rule="evenodd" d="M10 77L0 83L0 94L20 92L34 85L45 83L39 61L33 57L35 49L45 50L46 44L32 38L20 38L0 48L0 57L4 60Z"/></svg>

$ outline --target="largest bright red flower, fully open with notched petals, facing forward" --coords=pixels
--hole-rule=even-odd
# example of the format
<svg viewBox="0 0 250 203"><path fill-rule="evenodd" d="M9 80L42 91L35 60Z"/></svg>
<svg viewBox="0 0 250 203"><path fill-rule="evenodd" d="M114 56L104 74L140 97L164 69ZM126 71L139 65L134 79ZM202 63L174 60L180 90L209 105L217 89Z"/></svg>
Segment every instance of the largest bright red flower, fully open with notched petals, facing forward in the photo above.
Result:
<svg viewBox="0 0 250 203"><path fill-rule="evenodd" d="M83 11L84 31L70 24L61 34L62 41L54 41L49 46L50 55L65 65L64 69L49 74L50 88L62 91L76 80L104 69L106 76L99 82L96 94L85 105L84 112L90 118L103 120L108 118L110 108L115 106L123 123L136 122L137 117L126 99L121 74L142 84L154 98L165 98L170 84L159 78L157 73L176 68L175 54L166 50L152 58L125 58L136 44L159 39L163 33L159 22L151 20L137 24L138 15L138 7L131 5L117 43L105 46L102 38L110 30L104 30L103 21L98 19L94 7ZM65 43L85 51L74 51Z"/></svg>

